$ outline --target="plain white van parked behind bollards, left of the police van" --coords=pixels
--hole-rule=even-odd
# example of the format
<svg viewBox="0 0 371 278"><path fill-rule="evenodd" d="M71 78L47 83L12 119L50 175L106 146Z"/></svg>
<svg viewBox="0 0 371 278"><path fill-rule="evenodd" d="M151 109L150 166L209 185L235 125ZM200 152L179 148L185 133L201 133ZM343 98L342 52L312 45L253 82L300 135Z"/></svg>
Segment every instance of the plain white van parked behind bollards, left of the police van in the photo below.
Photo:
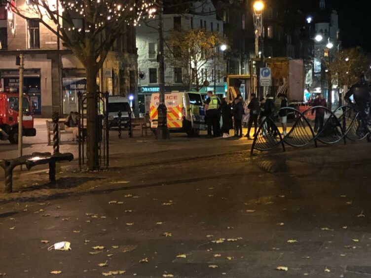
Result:
<svg viewBox="0 0 371 278"><path fill-rule="evenodd" d="M134 118L133 110L130 107L128 98L121 96L109 96L107 104L108 121L110 127L117 127L118 111L121 111L121 126L128 127L129 125L129 111L131 118Z"/></svg>

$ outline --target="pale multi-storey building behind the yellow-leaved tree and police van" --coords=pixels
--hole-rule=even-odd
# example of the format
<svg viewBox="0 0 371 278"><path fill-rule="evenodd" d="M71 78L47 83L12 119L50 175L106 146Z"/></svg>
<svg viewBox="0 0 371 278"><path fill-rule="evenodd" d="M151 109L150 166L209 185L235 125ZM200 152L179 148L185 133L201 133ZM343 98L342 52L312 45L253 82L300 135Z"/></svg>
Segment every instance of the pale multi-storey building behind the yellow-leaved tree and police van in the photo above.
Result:
<svg viewBox="0 0 371 278"><path fill-rule="evenodd" d="M206 31L217 32L223 35L223 21L216 15L213 3L207 0L203 3L194 1L184 13L173 13L174 10L165 9L163 15L164 37L166 38L173 30L204 29ZM145 96L159 91L158 84L158 16L148 21L142 21L137 26L137 46L138 46L138 91L141 109L144 109ZM169 55L165 45L165 57ZM223 59L223 58L222 58ZM211 61L212 63L212 61ZM208 65L210 68L210 65ZM182 79L186 69L170 66L165 63L165 91L188 91L189 84ZM217 93L224 93L224 65L217 65ZM206 72L205 72L206 73ZM201 91L214 90L214 78L212 70L203 77L208 81L208 85L201 88Z"/></svg>

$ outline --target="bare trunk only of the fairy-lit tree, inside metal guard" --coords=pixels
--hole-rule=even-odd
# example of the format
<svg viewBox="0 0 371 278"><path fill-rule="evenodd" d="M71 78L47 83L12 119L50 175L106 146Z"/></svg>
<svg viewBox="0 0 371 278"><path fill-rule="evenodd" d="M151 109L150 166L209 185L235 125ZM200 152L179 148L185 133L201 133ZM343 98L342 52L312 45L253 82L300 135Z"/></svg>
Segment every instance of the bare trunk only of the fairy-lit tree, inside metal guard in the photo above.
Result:
<svg viewBox="0 0 371 278"><path fill-rule="evenodd" d="M97 74L95 67L86 69L86 89L87 89L87 167L89 171L99 169L98 153L98 94L97 94Z"/></svg>

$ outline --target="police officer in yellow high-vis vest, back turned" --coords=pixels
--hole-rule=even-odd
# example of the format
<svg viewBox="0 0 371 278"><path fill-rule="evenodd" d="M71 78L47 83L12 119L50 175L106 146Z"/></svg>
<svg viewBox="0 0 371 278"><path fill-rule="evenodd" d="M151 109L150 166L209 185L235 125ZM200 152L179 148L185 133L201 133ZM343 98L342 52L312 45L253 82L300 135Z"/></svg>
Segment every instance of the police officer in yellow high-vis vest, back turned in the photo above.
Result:
<svg viewBox="0 0 371 278"><path fill-rule="evenodd" d="M214 137L218 137L220 131L218 109L221 105L221 101L216 95L213 95L212 91L208 91L207 96L208 98L205 104L207 135L209 137L212 136L211 129L213 128Z"/></svg>

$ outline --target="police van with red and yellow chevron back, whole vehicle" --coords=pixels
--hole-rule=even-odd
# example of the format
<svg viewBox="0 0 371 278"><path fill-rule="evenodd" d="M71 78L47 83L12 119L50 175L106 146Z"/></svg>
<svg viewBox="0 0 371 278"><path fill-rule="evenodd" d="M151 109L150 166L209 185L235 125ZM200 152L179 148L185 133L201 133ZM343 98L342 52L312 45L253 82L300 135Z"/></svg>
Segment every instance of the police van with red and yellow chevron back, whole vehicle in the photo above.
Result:
<svg viewBox="0 0 371 278"><path fill-rule="evenodd" d="M157 128L159 93L151 95L149 121L152 130ZM186 132L189 136L198 136L206 129L205 112L201 94L198 92L165 93L167 108L167 126L170 132Z"/></svg>

